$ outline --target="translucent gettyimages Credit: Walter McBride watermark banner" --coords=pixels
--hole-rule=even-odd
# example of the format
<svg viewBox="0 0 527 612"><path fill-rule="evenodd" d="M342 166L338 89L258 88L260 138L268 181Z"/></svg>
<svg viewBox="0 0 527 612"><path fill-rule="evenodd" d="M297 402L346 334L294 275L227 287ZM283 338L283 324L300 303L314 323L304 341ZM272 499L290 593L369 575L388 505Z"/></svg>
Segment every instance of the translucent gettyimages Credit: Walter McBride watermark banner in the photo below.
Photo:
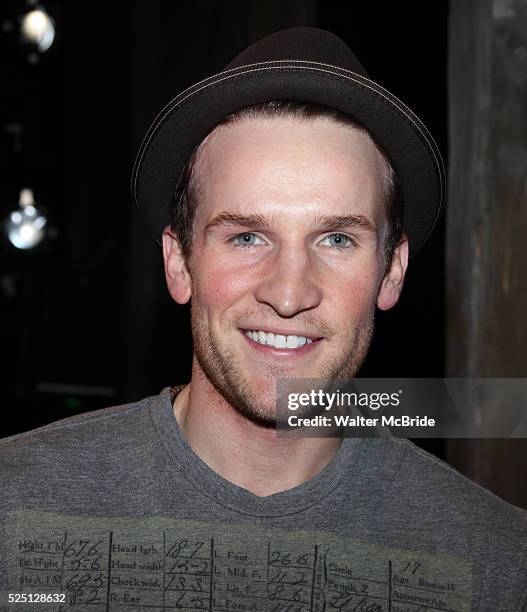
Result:
<svg viewBox="0 0 527 612"><path fill-rule="evenodd" d="M524 378L280 379L277 408L287 437L527 437Z"/></svg>

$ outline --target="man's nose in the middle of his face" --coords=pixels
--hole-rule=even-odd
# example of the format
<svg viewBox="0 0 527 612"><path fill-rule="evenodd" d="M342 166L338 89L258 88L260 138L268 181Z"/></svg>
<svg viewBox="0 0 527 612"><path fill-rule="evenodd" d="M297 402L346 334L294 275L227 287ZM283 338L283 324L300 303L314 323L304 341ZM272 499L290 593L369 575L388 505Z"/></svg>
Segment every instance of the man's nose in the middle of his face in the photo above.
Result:
<svg viewBox="0 0 527 612"><path fill-rule="evenodd" d="M320 304L321 285L309 253L298 245L281 247L267 263L268 272L254 293L260 303L268 304L282 317L292 317Z"/></svg>

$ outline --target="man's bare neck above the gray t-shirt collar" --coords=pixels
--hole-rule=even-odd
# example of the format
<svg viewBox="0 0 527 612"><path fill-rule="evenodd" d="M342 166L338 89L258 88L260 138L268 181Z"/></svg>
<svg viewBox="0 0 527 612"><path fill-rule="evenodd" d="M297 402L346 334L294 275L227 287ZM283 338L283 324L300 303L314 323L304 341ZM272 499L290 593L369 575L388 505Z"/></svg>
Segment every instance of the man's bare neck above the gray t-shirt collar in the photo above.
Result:
<svg viewBox="0 0 527 612"><path fill-rule="evenodd" d="M198 457L222 478L260 497L292 489L316 476L333 459L341 440L280 438L275 429L239 414L193 368L176 396L174 415Z"/></svg>

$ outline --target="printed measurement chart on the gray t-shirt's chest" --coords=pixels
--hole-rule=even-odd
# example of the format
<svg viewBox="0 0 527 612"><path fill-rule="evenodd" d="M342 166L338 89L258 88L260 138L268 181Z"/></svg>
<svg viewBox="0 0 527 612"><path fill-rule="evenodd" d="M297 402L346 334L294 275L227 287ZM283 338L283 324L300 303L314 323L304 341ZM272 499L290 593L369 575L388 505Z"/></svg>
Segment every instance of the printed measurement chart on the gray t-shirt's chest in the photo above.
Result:
<svg viewBox="0 0 527 612"><path fill-rule="evenodd" d="M7 536L9 592L61 600L5 610L471 609L469 560L331 533L20 511Z"/></svg>

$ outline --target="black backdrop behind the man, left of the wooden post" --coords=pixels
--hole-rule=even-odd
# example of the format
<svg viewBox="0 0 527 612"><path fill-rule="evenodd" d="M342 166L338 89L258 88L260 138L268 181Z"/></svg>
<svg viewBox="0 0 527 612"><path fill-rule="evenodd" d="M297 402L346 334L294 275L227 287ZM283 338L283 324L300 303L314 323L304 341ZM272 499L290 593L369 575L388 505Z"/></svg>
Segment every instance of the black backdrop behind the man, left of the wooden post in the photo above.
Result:
<svg viewBox="0 0 527 612"><path fill-rule="evenodd" d="M22 2L4 2L0 22ZM446 157L448 3L49 0L57 39L30 65L1 35L0 212L22 186L46 205L36 249L0 238L0 436L138 399L190 375L188 308L171 303L161 253L131 202L133 159L179 90L255 39L318 25L425 121ZM22 152L13 152L13 124ZM444 375L444 224L379 313L364 376ZM177 357L174 357L176 355ZM424 445L443 456L442 441Z"/></svg>

